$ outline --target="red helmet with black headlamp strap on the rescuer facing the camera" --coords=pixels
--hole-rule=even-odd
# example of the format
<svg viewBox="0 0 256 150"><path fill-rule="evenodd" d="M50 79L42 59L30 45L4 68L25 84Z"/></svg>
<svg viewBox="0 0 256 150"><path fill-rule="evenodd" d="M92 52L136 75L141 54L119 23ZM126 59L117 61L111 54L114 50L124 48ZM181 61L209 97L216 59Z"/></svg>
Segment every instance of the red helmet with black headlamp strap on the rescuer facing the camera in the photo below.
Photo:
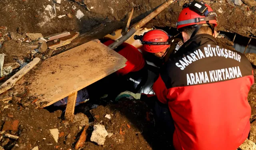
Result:
<svg viewBox="0 0 256 150"><path fill-rule="evenodd" d="M170 46L169 36L163 30L150 30L142 37L143 49L146 52L157 53L166 50Z"/></svg>

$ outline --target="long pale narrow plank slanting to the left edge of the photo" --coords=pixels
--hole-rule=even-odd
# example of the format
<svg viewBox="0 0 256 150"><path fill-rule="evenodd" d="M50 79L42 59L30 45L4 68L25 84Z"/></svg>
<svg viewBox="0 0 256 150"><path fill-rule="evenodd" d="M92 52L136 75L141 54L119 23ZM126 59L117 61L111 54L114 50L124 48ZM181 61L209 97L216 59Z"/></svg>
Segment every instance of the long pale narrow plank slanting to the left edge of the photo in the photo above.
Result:
<svg viewBox="0 0 256 150"><path fill-rule="evenodd" d="M12 88L15 85L15 83L18 80L20 80L20 78L22 78L27 72L29 72L29 70L31 70L34 66L36 66L36 64L39 61L40 61L40 58L34 58L34 60L32 62L30 62L29 64L24 66L20 71L18 71L16 74L14 74L14 76L12 76L10 79L8 79L6 82L4 82L0 86L0 94L9 90L10 88Z"/></svg>

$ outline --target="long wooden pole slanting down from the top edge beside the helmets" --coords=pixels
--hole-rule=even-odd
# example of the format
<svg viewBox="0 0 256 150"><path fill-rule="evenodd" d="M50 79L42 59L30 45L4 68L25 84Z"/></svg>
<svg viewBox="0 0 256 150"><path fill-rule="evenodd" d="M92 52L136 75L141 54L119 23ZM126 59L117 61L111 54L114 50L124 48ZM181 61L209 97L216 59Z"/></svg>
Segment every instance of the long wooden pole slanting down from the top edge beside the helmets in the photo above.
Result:
<svg viewBox="0 0 256 150"><path fill-rule="evenodd" d="M118 40L116 40L114 43L110 44L108 47L114 50L118 46L120 46L124 41L126 41L128 38L130 38L137 30L139 30L142 26L144 26L146 23L148 23L151 19L153 19L155 16L157 16L160 12L162 12L166 7L168 7L173 2L176 2L176 0L168 0L168 2L165 2L161 6L159 6L156 10L151 12L148 16L146 16L144 19L140 20L136 25L134 25L131 30L127 32L125 36L122 36Z"/></svg>

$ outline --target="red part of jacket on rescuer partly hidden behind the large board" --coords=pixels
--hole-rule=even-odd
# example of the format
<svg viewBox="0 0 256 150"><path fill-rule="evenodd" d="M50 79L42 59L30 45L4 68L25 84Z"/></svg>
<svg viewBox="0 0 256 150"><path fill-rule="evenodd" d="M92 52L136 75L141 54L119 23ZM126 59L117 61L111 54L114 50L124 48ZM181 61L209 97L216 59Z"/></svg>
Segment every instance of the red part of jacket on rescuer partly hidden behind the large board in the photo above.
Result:
<svg viewBox="0 0 256 150"><path fill-rule="evenodd" d="M103 44L108 46L113 42L114 40L108 40ZM146 60L144 59L143 55L138 51L136 47L132 46L131 44L123 43L118 46L115 51L127 59L126 66L116 72L118 75L124 76L129 72L139 71L146 64Z"/></svg>

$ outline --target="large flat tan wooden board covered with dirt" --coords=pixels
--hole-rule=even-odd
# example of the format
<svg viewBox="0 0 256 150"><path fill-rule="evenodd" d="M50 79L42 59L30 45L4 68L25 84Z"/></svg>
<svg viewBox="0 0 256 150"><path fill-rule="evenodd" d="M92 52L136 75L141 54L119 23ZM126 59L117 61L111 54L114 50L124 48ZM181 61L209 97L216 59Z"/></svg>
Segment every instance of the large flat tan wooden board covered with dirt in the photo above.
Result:
<svg viewBox="0 0 256 150"><path fill-rule="evenodd" d="M37 96L38 107L46 107L123 68L126 59L98 40L90 41L44 60L14 87ZM23 84L23 85L22 85Z"/></svg>

